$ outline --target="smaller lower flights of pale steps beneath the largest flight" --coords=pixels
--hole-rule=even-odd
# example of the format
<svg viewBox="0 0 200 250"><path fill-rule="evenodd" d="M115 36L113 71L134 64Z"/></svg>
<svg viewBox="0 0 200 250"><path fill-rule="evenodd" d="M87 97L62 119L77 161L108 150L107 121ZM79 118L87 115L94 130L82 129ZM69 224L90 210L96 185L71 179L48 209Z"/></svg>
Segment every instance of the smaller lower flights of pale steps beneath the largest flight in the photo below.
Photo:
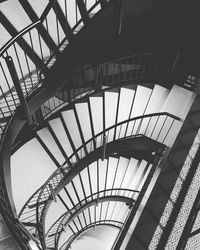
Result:
<svg viewBox="0 0 200 250"><path fill-rule="evenodd" d="M90 226L106 222L121 228L150 168L151 165L144 160L112 156L104 161L98 160L82 170L65 186L67 195L72 195L70 199L66 199L64 192L59 194L59 199L64 201L65 209L68 207L68 210L47 231L47 248L59 249L60 237L67 239L70 245L80 230L84 231ZM78 190L78 197L73 189ZM57 208L60 205L56 203ZM55 211L55 207L52 209ZM59 209L61 212L62 209Z"/></svg>

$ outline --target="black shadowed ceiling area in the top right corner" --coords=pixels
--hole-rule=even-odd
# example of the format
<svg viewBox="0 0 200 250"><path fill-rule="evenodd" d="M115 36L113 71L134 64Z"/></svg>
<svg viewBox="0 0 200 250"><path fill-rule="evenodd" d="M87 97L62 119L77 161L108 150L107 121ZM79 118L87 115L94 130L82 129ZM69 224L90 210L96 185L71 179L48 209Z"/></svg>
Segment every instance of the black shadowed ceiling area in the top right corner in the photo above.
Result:
<svg viewBox="0 0 200 250"><path fill-rule="evenodd" d="M161 2L161 1L160 1ZM200 58L199 1L165 1L146 11L91 58L93 63L145 51L179 50L181 68L198 74ZM182 69L183 70L183 69Z"/></svg>

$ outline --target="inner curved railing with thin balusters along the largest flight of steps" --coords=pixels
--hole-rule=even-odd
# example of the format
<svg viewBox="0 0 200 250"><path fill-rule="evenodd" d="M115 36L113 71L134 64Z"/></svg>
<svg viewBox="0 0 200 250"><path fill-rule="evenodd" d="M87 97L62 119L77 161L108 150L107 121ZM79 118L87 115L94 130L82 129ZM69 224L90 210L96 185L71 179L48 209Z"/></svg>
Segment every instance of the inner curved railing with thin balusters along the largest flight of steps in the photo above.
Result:
<svg viewBox="0 0 200 250"><path fill-rule="evenodd" d="M73 152L68 161L64 162L63 165L49 177L41 189L37 190L25 204L20 213L20 218L23 219L24 224L29 223L29 220L31 220L33 225L40 225L39 228L41 229L46 205L52 200L52 190L56 195L60 185L65 180L67 172L70 171L71 165L74 166L77 163L75 159L82 159L87 156L88 153L104 146L105 136L107 138L106 143L130 136L145 135L166 144L170 142L171 132L177 126L176 122L180 123L182 121L177 116L163 112L134 117L105 129L105 131L97 134L95 138L88 140L85 145L76 149L76 152ZM71 163L69 165L70 161ZM34 226L29 229L35 230ZM39 236L41 237L41 241L44 241L44 236L41 235L41 232Z"/></svg>

